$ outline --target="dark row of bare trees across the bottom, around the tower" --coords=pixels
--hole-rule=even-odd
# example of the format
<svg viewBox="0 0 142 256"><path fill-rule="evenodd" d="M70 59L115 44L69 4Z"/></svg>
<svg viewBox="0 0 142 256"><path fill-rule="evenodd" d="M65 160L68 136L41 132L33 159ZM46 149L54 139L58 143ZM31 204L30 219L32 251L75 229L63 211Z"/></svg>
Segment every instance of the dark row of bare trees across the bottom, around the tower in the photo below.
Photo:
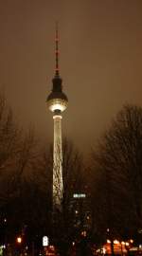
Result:
<svg viewBox="0 0 142 256"><path fill-rule="evenodd" d="M100 245L109 238L137 239L142 230L142 108L126 105L90 153L89 165L67 138L62 144L63 200L60 243L78 239L72 197L86 192L91 225L87 239ZM39 147L32 129L16 123L0 95L0 242L41 245L52 230L52 147ZM83 215L83 214L82 214ZM80 218L83 219L80 214ZM57 232L58 233L58 232ZM62 241L61 241L62 240ZM113 247L112 247L113 253Z"/></svg>

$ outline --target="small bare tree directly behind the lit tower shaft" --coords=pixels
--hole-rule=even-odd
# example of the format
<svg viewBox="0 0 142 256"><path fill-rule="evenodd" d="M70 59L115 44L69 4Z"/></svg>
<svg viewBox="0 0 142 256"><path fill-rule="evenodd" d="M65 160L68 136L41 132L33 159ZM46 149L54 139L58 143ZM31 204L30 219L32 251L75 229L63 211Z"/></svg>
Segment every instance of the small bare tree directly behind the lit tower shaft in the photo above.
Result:
<svg viewBox="0 0 142 256"><path fill-rule="evenodd" d="M57 176L58 171L57 166ZM41 183L43 189L48 193L50 203L52 203L52 175L53 147L51 146L43 155L41 155L41 158L35 163L34 168L34 178L37 179L37 183ZM57 211L56 220L54 219L54 234L52 233L52 235L58 237L58 241L62 240L67 243L67 240L74 229L73 210L75 209L72 208L73 193L82 192L84 189L82 157L72 141L67 138L64 138L62 141L62 176L62 211ZM58 183L56 186L58 189ZM49 210L51 210L51 204ZM57 226L57 228L55 228L55 226ZM65 238L64 235L66 236Z"/></svg>

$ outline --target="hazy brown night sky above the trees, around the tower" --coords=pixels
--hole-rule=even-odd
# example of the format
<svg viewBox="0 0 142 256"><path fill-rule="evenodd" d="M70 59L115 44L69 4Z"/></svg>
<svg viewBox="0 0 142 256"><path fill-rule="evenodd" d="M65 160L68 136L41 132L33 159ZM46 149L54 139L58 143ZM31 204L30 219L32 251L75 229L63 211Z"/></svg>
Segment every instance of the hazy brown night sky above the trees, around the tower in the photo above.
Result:
<svg viewBox="0 0 142 256"><path fill-rule="evenodd" d="M57 20L62 133L89 152L123 104L142 105L142 1L0 0L0 85L19 123L46 143Z"/></svg>

